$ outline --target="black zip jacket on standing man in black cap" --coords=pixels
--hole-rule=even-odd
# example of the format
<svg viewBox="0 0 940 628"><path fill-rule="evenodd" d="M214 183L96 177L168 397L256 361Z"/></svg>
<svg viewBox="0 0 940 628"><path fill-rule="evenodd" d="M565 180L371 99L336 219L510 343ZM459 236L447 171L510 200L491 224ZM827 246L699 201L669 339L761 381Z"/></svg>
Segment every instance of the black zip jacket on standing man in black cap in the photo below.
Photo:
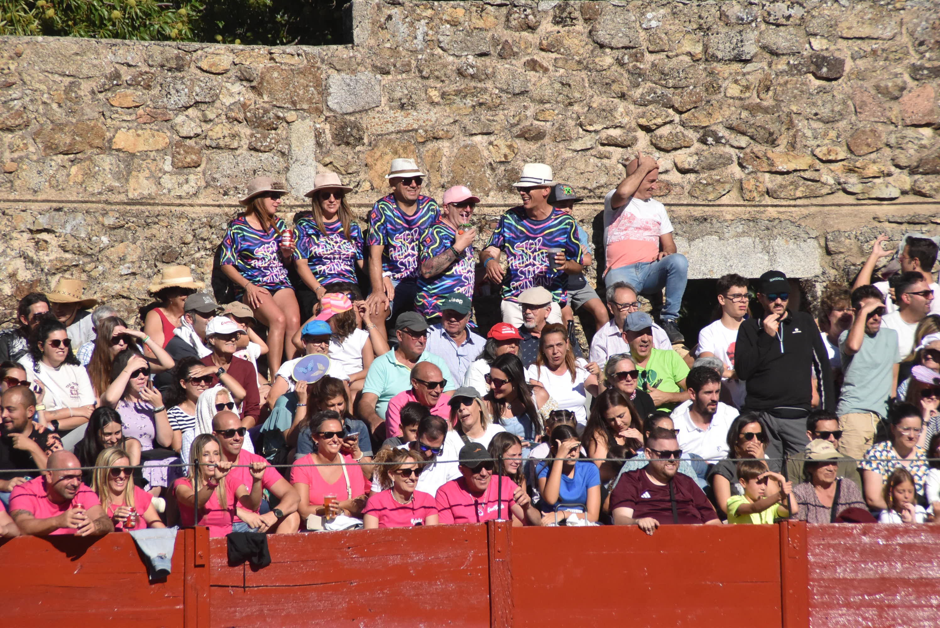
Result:
<svg viewBox="0 0 940 628"><path fill-rule="evenodd" d="M789 407L808 412L813 374L820 385L823 409L836 407L829 355L816 322L806 312L788 310L787 318L777 328L777 336L764 331L763 319L741 323L734 348L734 369L747 382L744 399L747 410Z"/></svg>

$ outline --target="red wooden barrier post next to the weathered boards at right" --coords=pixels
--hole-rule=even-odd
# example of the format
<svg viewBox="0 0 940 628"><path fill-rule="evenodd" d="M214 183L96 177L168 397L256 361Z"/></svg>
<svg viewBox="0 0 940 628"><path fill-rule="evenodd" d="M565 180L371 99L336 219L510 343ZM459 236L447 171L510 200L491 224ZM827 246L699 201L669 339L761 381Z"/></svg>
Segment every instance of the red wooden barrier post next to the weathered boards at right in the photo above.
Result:
<svg viewBox="0 0 940 628"><path fill-rule="evenodd" d="M802 521L787 521L779 526L783 628L809 628L807 525Z"/></svg>

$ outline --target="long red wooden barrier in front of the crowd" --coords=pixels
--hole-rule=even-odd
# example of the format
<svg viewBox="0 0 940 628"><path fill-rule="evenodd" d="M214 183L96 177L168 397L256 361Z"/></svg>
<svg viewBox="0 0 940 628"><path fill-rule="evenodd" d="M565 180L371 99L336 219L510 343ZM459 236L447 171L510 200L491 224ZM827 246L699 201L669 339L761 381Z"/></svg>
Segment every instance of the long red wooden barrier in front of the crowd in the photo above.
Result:
<svg viewBox="0 0 940 628"><path fill-rule="evenodd" d="M940 625L940 526L431 526L274 536L262 570L181 530L149 584L126 534L0 544L10 626Z"/></svg>

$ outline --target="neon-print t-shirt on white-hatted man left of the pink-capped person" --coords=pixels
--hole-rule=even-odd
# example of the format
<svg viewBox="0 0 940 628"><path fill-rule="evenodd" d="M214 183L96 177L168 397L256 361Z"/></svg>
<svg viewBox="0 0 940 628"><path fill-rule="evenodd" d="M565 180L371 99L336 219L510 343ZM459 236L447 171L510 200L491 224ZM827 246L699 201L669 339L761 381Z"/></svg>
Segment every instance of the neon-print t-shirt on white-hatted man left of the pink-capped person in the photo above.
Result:
<svg viewBox="0 0 940 628"><path fill-rule="evenodd" d="M417 197L417 211L409 216L399 209L395 196L376 201L368 214L366 244L383 244L382 270L392 274L393 281L417 276L418 239L437 221L441 211L431 196Z"/></svg>

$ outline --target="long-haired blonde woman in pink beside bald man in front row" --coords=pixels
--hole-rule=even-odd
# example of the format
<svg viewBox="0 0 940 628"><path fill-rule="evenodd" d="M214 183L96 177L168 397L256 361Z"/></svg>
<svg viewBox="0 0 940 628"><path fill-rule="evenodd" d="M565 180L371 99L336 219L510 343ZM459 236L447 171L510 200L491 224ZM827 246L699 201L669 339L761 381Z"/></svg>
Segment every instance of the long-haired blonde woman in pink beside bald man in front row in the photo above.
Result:
<svg viewBox="0 0 940 628"><path fill-rule="evenodd" d="M135 486L131 457L120 447L108 447L98 454L91 476L91 488L102 500L102 508L115 531L166 527L153 507L153 495Z"/></svg>

